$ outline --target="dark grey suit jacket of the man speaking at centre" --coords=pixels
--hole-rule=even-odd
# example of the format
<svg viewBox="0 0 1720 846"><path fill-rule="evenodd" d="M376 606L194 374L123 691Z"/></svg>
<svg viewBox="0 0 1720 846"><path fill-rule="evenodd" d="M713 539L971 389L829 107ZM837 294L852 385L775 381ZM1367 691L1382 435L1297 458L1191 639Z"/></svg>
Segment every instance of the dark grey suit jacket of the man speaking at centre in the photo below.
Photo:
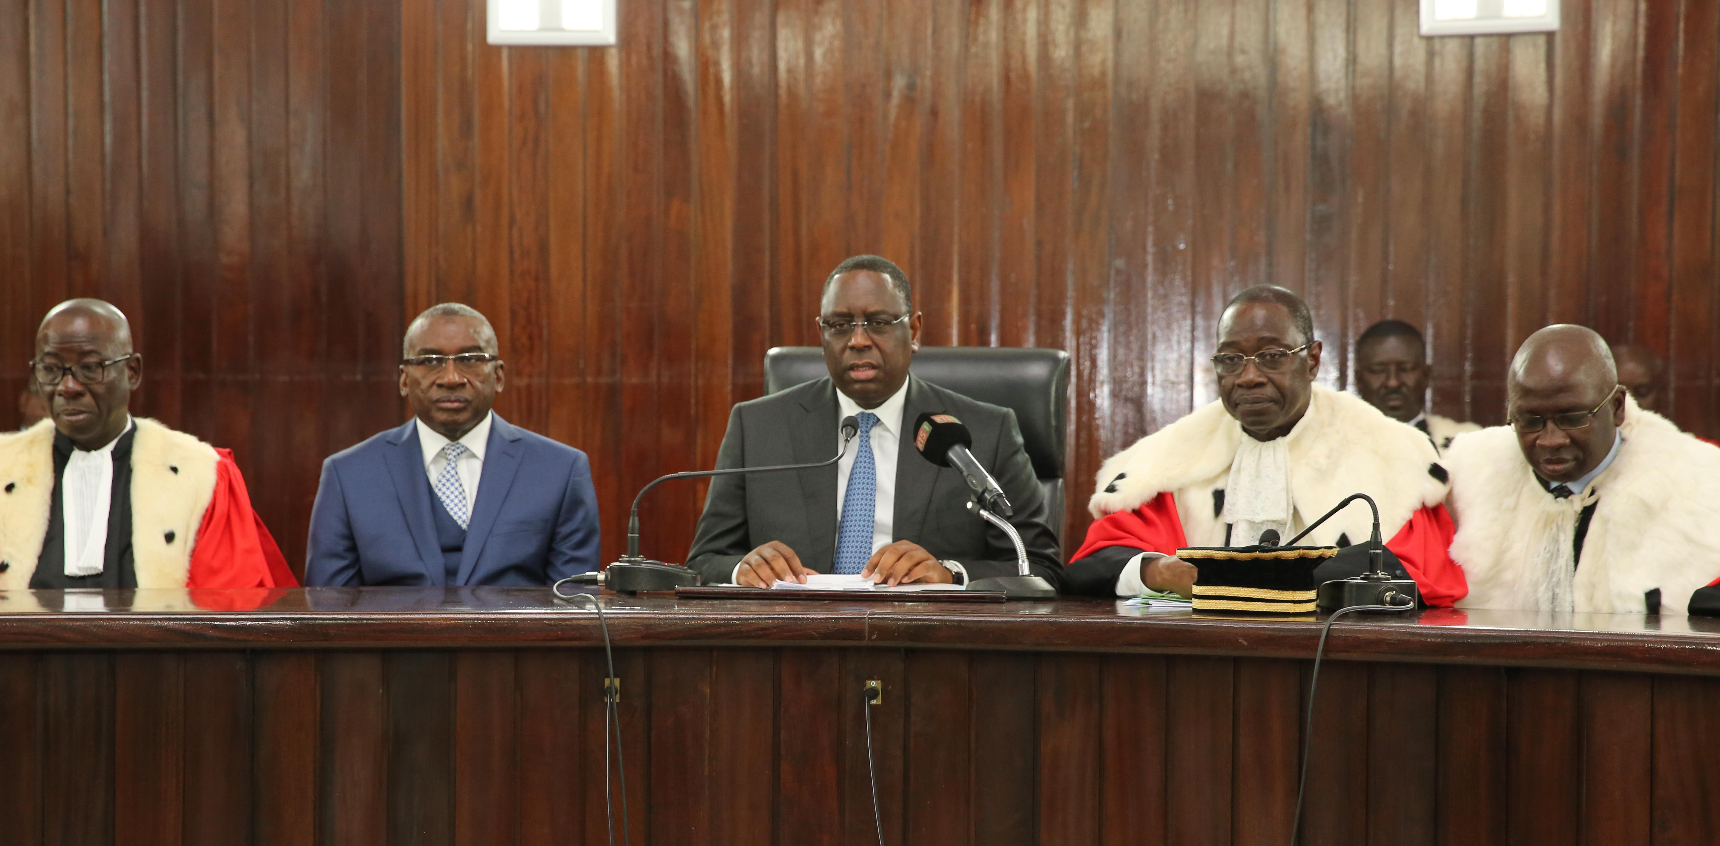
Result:
<svg viewBox="0 0 1720 846"><path fill-rule="evenodd" d="M729 432L717 468L805 464L836 452L836 387L829 378L753 399L729 413ZM1015 545L1008 535L967 511L961 473L925 461L913 449L913 421L925 411L955 414L974 433L974 457L1003 487L1015 507L1010 523L1022 533L1035 574L1060 583L1058 538L1046 526L1044 488L1022 447L1015 411L979 402L908 377L901 413L906 430L896 457L894 540L912 540L941 561L958 561L968 578L1013 576ZM850 447L853 449L853 447ZM729 581L741 555L779 540L800 562L831 573L836 557L836 464L819 469L717 476L698 518L686 566L707 583Z"/></svg>

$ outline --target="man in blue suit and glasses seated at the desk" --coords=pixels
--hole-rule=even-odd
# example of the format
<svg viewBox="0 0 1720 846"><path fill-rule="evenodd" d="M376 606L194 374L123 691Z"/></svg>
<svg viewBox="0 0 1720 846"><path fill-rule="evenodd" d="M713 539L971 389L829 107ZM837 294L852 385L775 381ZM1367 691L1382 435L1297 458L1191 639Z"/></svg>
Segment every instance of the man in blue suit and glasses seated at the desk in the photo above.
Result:
<svg viewBox="0 0 1720 846"><path fill-rule="evenodd" d="M597 569L592 464L490 411L497 352L470 306L413 320L401 395L415 418L323 461L306 586L549 585Z"/></svg>

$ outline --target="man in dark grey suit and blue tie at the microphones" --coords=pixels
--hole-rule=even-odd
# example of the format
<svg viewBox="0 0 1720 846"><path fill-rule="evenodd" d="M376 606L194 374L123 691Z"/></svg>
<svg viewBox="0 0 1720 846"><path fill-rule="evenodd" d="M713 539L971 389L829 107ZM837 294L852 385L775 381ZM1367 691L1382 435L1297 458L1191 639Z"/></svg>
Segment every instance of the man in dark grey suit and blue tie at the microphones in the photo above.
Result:
<svg viewBox="0 0 1720 846"><path fill-rule="evenodd" d="M891 261L855 256L831 272L819 304L829 378L734 406L717 468L827 459L848 416L860 435L834 466L712 480L688 567L707 583L760 588L808 573L884 585L1013 576L1015 545L967 511L961 475L915 451L915 420L944 413L972 432L974 457L1015 507L1032 571L1060 583L1058 538L1015 413L908 375L920 325L908 277Z"/></svg>

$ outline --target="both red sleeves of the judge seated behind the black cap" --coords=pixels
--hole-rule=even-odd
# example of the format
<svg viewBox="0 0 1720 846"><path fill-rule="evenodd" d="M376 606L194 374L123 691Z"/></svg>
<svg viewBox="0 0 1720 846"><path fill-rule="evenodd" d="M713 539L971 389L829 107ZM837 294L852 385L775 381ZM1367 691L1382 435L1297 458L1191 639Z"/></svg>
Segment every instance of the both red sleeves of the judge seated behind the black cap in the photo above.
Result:
<svg viewBox="0 0 1720 846"><path fill-rule="evenodd" d="M1409 523L1386 542L1404 569L1416 579L1421 598L1428 605L1450 607L1469 593L1464 571L1452 561L1452 535L1457 526L1445 506L1421 507ZM1163 492L1135 511L1118 511L1094 521L1087 542L1070 557L1080 561L1106 547L1128 547L1146 552L1175 555L1189 545L1182 518L1176 516L1176 497Z"/></svg>

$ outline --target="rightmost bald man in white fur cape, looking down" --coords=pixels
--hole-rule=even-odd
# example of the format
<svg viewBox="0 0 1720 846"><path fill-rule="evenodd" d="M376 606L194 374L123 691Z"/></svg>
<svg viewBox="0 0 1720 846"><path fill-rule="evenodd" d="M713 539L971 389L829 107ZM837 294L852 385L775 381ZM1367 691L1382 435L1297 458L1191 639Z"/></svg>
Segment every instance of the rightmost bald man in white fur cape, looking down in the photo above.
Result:
<svg viewBox="0 0 1720 846"><path fill-rule="evenodd" d="M1720 574L1720 449L1643 409L1584 327L1529 335L1507 399L1445 456L1459 605L1686 614Z"/></svg>

